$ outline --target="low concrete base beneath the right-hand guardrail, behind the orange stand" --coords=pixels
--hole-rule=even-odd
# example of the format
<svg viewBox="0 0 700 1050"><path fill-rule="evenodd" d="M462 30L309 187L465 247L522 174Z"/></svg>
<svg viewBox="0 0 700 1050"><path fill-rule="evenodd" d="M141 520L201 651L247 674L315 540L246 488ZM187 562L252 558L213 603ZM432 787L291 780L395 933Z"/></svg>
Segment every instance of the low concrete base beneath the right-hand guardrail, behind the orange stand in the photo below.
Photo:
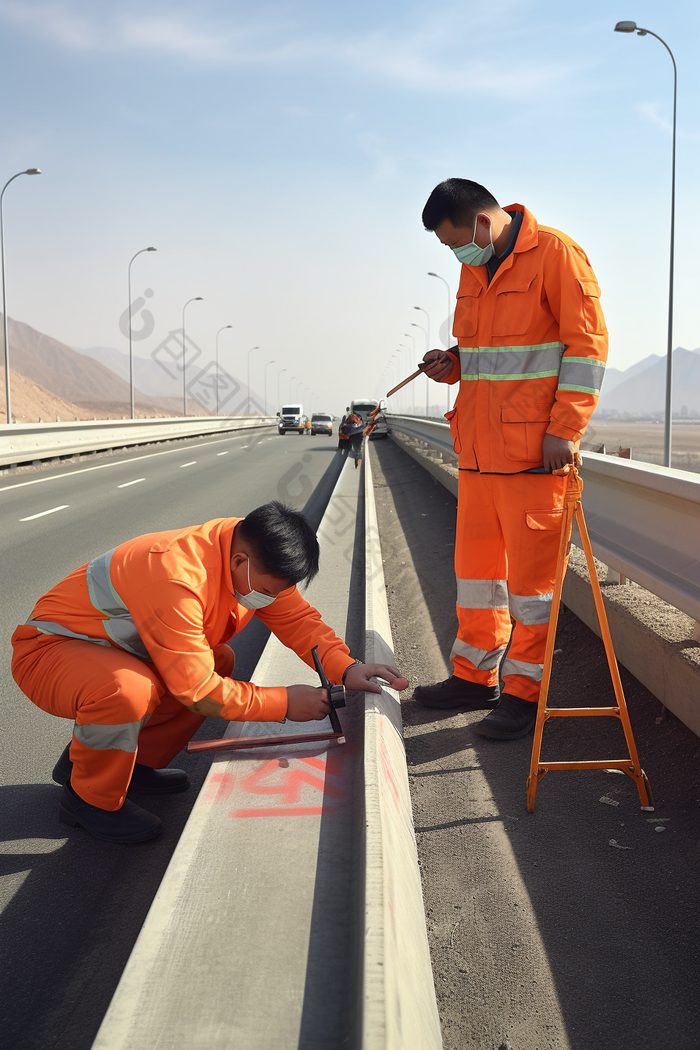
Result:
<svg viewBox="0 0 700 1050"><path fill-rule="evenodd" d="M457 498L457 467L450 469L447 464L430 459L396 433L391 434L391 438ZM634 590L629 587L604 588L603 601L619 663L657 696L669 711L700 736L700 649L691 639L691 617L672 609L640 587L635 587ZM569 571L564 582L563 602L600 636L590 578L584 553L578 548L572 550ZM686 642L663 637L644 622L642 609L650 603L664 607L677 622L681 617L687 622Z"/></svg>

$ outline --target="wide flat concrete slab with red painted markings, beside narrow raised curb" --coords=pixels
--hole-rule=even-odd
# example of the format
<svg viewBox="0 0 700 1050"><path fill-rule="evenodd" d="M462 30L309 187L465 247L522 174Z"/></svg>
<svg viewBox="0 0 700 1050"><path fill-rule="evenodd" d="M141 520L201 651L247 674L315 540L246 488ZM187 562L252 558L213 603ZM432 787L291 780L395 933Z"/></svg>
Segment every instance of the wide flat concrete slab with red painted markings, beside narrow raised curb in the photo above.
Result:
<svg viewBox="0 0 700 1050"><path fill-rule="evenodd" d="M354 529L345 528L344 520L348 483L357 497L357 479L345 469L319 527L323 562L332 564L306 594L338 633L345 625L344 578L349 574L354 546ZM356 513L355 506L351 521ZM314 670L274 635L251 677L261 686L285 680L318 684ZM292 724L298 732L331 729L327 720ZM230 722L226 736L289 732L290 724L278 722ZM336 749L336 762L345 757L338 754L340 750ZM334 858L333 850L326 850L325 859L320 855L322 824L330 818L328 802L340 805L333 794L326 798L327 751L324 743L280 743L214 757L93 1050L145 1050L156 1045L167 1050L299 1046L320 1050L322 1044L310 1027L324 1030L324 1005L326 1000L337 1001L343 972L338 965L337 972L328 972L333 963L324 959L323 980L310 975L314 942L319 940L314 928L319 869ZM270 766L279 770L266 773ZM267 777L262 786L251 784L261 774ZM283 777L290 778L289 792L280 788ZM339 784L330 790L337 794ZM351 792L343 795L352 805ZM295 812L299 803L303 807L310 802L314 812ZM242 806L254 806L259 816ZM344 873L334 873L325 879L328 892L352 900L352 895L343 894L345 881ZM333 912L338 910L334 902ZM335 938L327 942L332 948ZM340 993L347 994L346 987ZM312 1011L313 994L321 996L322 1005ZM313 1022L307 1020L310 1012Z"/></svg>

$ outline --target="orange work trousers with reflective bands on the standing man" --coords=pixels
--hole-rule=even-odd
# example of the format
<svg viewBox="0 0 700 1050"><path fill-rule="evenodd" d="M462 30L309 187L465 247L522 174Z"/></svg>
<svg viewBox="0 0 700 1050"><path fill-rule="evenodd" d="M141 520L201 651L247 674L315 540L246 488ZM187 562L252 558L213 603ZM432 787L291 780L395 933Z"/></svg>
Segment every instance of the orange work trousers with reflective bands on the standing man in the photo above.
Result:
<svg viewBox="0 0 700 1050"><path fill-rule="evenodd" d="M505 692L537 700L566 487L552 475L460 470L458 677L496 686L501 674Z"/></svg>

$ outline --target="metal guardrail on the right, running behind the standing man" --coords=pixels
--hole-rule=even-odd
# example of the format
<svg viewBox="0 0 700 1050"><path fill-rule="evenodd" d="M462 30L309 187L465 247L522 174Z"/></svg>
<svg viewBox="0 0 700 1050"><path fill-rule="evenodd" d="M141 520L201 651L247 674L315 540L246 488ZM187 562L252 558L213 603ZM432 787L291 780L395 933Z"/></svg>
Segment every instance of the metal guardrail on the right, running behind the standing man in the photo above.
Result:
<svg viewBox="0 0 700 1050"><path fill-rule="evenodd" d="M389 426L457 464L449 425L389 416ZM595 556L700 621L700 475L582 453L584 506Z"/></svg>

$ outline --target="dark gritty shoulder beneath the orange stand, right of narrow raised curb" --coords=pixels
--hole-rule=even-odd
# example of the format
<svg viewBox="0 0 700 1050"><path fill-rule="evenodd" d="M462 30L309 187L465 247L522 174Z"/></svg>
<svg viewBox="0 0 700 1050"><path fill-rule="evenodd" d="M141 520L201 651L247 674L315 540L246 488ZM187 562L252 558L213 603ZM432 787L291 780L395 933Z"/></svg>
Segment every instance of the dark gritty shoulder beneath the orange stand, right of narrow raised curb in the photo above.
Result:
<svg viewBox="0 0 700 1050"><path fill-rule="evenodd" d="M394 442L372 456L397 664L411 686L434 681L455 630L455 502ZM403 704L446 1050L698 1046L700 740L622 680L654 813L623 775L586 772L549 774L530 815L531 738L487 740L479 712ZM568 610L551 695L613 698L601 643ZM623 747L612 719L567 719L547 728L544 757Z"/></svg>

